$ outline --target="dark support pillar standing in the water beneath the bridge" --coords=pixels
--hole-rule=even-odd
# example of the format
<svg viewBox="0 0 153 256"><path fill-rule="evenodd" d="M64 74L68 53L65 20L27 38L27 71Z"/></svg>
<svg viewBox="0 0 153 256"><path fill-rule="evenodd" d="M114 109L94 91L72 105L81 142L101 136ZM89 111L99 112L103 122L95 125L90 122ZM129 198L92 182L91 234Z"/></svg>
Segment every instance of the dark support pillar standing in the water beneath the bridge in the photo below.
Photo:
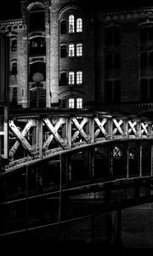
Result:
<svg viewBox="0 0 153 256"><path fill-rule="evenodd" d="M106 214L107 241L111 247L122 247L122 210Z"/></svg>

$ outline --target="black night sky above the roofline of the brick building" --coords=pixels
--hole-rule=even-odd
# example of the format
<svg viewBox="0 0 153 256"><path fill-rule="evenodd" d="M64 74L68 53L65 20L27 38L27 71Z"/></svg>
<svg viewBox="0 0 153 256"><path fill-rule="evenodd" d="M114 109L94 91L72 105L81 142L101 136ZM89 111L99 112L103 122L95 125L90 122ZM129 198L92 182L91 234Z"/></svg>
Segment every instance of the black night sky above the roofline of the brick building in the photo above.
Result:
<svg viewBox="0 0 153 256"><path fill-rule="evenodd" d="M11 19L20 19L21 10L20 10L20 1L21 0L2 0L2 7L0 8L0 20L11 20ZM105 9L121 9L121 8L130 8L130 7L153 7L153 0L145 1L121 1L121 0L82 0L88 3L88 6L96 7L99 9L100 6Z"/></svg>

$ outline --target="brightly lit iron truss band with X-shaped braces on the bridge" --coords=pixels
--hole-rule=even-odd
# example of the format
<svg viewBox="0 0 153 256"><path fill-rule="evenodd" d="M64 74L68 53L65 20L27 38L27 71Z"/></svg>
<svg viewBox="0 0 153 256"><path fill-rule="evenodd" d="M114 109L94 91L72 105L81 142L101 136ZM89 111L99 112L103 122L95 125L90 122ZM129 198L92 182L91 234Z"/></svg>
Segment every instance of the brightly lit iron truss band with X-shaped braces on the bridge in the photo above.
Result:
<svg viewBox="0 0 153 256"><path fill-rule="evenodd" d="M152 120L137 116L82 109L18 110L8 117L8 164L4 171L102 143L152 138Z"/></svg>

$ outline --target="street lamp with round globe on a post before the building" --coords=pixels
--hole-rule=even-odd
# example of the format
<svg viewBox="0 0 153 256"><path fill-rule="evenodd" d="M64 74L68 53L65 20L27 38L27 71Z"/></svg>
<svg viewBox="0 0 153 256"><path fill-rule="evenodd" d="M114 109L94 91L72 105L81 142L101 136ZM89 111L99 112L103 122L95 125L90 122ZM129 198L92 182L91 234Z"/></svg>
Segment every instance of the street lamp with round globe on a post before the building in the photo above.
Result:
<svg viewBox="0 0 153 256"><path fill-rule="evenodd" d="M43 81L43 75L42 73L34 73L32 76L33 81L36 83L36 87L37 87L37 108L39 108L39 102L40 102L40 97L41 97L41 90L40 87L42 87L42 81Z"/></svg>

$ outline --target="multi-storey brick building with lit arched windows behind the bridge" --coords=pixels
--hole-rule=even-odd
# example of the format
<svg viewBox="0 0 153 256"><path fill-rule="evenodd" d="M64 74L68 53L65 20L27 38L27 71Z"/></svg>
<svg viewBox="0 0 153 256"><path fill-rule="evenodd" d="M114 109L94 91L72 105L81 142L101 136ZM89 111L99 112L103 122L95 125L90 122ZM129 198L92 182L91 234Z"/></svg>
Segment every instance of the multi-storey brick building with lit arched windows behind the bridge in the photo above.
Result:
<svg viewBox="0 0 153 256"><path fill-rule="evenodd" d="M0 21L10 38L10 105L35 108L39 93L43 108L151 110L151 7L26 0L20 8L20 19Z"/></svg>

